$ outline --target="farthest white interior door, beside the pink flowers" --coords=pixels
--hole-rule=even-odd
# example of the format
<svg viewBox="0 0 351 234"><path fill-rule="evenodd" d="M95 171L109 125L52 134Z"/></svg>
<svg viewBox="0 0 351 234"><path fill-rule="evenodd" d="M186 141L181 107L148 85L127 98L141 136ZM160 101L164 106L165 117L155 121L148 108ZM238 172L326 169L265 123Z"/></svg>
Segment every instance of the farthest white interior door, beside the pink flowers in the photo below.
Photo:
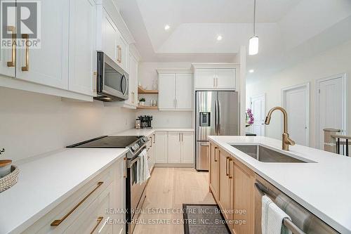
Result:
<svg viewBox="0 0 351 234"><path fill-rule="evenodd" d="M251 97L251 110L253 113L253 133L257 136L265 136L265 96Z"/></svg>

